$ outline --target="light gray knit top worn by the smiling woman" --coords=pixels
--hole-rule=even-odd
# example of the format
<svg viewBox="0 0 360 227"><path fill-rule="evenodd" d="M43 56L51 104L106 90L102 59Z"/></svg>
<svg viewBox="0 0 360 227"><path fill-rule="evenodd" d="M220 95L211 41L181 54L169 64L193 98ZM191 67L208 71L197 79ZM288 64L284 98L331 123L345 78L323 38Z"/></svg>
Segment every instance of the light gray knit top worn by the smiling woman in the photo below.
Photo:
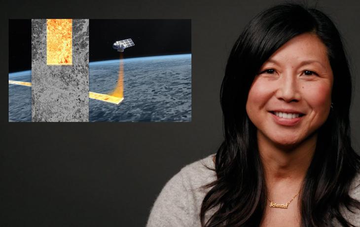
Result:
<svg viewBox="0 0 360 227"><path fill-rule="evenodd" d="M215 168L214 154L189 164L181 169L161 190L147 221L146 227L200 227L200 208L209 189L202 186L213 182L216 173L205 166ZM205 165L205 166L204 166ZM352 184L350 195L360 200L360 177ZM215 212L215 208L206 213L205 221ZM353 225L360 227L360 211L351 213L344 209L343 214ZM334 222L334 226L341 226Z"/></svg>

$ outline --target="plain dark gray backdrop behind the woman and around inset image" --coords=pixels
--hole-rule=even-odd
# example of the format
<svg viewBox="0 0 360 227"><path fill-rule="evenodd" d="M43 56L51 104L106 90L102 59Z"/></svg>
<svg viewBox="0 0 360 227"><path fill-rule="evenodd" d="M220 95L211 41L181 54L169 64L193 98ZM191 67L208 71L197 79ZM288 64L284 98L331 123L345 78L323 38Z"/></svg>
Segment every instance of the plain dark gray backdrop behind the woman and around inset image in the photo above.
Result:
<svg viewBox="0 0 360 227"><path fill-rule="evenodd" d="M244 25L276 2L2 0L0 226L144 226L166 181L217 150L226 58ZM318 5L338 25L359 76L359 2ZM8 123L7 19L20 18L192 19L192 122ZM359 151L360 87L354 84L351 119Z"/></svg>

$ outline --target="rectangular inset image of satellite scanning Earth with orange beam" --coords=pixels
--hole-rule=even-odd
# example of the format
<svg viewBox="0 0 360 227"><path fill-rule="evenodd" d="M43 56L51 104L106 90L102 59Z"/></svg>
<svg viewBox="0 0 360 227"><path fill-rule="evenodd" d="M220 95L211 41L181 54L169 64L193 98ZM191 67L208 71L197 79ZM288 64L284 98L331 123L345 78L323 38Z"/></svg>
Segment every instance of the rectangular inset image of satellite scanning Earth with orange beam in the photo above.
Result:
<svg viewBox="0 0 360 227"><path fill-rule="evenodd" d="M191 20L10 19L8 113L191 121Z"/></svg>

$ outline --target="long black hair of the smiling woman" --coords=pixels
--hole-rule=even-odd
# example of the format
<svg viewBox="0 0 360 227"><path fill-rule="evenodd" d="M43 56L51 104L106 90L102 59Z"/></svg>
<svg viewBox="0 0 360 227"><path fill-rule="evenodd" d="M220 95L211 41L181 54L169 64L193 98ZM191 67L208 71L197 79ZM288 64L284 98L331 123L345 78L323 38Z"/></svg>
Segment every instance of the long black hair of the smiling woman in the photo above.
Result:
<svg viewBox="0 0 360 227"><path fill-rule="evenodd" d="M340 34L323 12L281 4L253 18L230 53L220 92L225 140L216 153L217 180L206 186L211 189L201 206L203 227L260 225L267 190L256 128L245 108L248 92L262 64L288 40L304 33L316 34L324 42L334 82L333 108L318 129L316 151L299 196L301 226L333 226L333 220L352 226L340 210L360 209L360 202L349 196L360 158L350 141L352 83ZM205 223L205 214L213 209Z"/></svg>

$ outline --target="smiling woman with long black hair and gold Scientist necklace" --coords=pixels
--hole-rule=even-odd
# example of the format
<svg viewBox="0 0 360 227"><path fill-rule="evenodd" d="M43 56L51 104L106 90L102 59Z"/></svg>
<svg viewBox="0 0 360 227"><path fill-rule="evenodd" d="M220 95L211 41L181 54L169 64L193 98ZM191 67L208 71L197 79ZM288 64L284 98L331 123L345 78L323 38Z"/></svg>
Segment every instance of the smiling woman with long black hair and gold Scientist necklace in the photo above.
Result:
<svg viewBox="0 0 360 227"><path fill-rule="evenodd" d="M227 62L216 157L173 177L147 226L360 226L350 101L331 20L296 4L263 11Z"/></svg>

